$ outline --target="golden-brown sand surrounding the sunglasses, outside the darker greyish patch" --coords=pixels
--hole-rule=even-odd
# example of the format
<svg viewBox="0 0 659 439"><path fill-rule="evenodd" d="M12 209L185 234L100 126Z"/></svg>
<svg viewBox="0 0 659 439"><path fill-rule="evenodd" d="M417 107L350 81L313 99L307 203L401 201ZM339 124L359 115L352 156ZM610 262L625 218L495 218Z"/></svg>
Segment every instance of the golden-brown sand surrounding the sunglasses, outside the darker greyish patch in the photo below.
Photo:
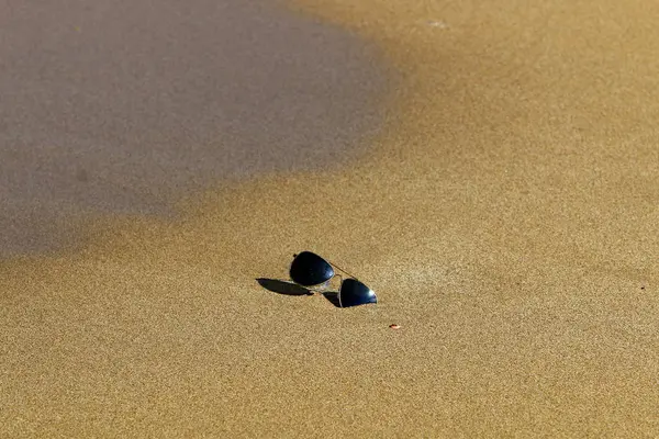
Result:
<svg viewBox="0 0 659 439"><path fill-rule="evenodd" d="M313 3L402 71L372 155L3 262L1 436L658 436L659 5Z"/></svg>

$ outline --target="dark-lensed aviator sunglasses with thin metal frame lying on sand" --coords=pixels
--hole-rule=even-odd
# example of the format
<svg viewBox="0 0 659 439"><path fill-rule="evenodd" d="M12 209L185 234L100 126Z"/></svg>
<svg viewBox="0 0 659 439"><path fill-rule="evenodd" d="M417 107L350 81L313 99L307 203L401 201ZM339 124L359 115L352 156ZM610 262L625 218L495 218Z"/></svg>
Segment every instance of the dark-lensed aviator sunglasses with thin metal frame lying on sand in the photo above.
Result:
<svg viewBox="0 0 659 439"><path fill-rule="evenodd" d="M326 284L335 275L340 279L338 305L342 308L378 303L378 297L376 297L376 293L371 289L359 282L347 271L330 263L320 256L311 251L302 251L299 255L294 255L293 258L290 275L291 280L299 285L305 288L319 286ZM340 274L335 273L334 269L348 274L350 278L343 279Z"/></svg>

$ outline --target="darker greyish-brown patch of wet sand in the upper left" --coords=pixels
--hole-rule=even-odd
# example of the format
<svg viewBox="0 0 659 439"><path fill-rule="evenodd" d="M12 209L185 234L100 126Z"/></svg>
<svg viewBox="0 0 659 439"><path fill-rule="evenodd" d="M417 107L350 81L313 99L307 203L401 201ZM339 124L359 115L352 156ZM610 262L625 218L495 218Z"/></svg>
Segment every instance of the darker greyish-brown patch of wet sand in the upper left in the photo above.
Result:
<svg viewBox="0 0 659 439"><path fill-rule="evenodd" d="M377 49L273 1L0 2L0 256L81 214L326 169L381 124Z"/></svg>

